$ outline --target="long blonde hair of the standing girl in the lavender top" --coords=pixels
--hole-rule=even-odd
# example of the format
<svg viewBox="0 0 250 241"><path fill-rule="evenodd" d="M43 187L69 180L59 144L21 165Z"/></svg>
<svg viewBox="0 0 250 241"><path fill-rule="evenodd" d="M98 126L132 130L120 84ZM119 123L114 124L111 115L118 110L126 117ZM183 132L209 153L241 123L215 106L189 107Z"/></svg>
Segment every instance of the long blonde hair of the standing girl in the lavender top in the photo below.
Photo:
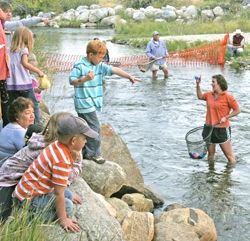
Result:
<svg viewBox="0 0 250 241"><path fill-rule="evenodd" d="M32 52L33 44L33 33L27 27L19 27L13 35L10 51L17 52L22 48L28 48L29 52Z"/></svg>

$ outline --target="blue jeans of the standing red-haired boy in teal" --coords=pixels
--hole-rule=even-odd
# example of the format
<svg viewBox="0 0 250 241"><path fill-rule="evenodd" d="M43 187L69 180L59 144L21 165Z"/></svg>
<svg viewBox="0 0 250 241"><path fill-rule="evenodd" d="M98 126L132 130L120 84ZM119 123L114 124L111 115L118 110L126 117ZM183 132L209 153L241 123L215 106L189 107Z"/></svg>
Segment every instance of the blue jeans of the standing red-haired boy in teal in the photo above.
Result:
<svg viewBox="0 0 250 241"><path fill-rule="evenodd" d="M79 117L83 118L91 129L96 131L99 136L97 139L87 137L87 143L82 150L83 157L99 156L101 154L101 138L100 138L100 122L98 120L96 111L91 113L77 113Z"/></svg>

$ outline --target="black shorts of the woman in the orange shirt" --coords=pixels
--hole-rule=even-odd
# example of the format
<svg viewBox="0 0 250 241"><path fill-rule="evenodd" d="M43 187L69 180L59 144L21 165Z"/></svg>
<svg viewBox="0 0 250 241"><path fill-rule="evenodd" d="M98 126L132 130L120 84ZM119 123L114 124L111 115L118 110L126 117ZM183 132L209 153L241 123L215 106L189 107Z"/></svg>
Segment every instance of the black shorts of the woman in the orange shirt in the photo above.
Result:
<svg viewBox="0 0 250 241"><path fill-rule="evenodd" d="M211 131L211 126L204 125L202 131L202 137L205 139ZM231 139L231 127L228 128L214 128L211 139L209 141L210 144L222 144Z"/></svg>

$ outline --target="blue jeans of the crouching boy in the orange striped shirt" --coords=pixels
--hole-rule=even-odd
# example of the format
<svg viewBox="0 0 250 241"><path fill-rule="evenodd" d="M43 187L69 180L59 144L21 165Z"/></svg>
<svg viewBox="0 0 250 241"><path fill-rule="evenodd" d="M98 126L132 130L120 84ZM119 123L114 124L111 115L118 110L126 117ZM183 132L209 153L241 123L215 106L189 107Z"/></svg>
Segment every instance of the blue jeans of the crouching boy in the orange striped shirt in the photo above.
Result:
<svg viewBox="0 0 250 241"><path fill-rule="evenodd" d="M73 214L73 194L68 188L66 188L64 191L64 197L67 217L70 217ZM56 196L54 192L47 193L41 196L36 196L30 201L29 209L33 212L33 214L41 214L41 217L44 221L56 220L57 215L55 199ZM21 203L21 206L23 206L23 203L24 202Z"/></svg>

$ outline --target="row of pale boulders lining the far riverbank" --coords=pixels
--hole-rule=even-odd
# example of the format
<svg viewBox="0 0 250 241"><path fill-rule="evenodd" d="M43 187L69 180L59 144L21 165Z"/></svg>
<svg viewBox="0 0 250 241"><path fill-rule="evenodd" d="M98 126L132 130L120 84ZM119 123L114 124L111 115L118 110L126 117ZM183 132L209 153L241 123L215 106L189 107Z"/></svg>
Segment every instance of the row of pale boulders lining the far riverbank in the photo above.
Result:
<svg viewBox="0 0 250 241"><path fill-rule="evenodd" d="M250 4L243 2L241 8L248 9ZM116 24L127 24L128 21L143 22L145 20L161 23L176 21L179 24L192 24L197 19L218 22L230 11L230 6L225 4L218 4L212 8L199 8L194 5L176 8L166 5L161 8L148 6L140 9L125 8L123 5L116 5L111 8L92 4L90 6L78 6L76 9L70 9L61 14L40 12L38 16L50 17L50 25L56 28L60 27L63 21L78 22L79 26L84 28L115 27Z"/></svg>

